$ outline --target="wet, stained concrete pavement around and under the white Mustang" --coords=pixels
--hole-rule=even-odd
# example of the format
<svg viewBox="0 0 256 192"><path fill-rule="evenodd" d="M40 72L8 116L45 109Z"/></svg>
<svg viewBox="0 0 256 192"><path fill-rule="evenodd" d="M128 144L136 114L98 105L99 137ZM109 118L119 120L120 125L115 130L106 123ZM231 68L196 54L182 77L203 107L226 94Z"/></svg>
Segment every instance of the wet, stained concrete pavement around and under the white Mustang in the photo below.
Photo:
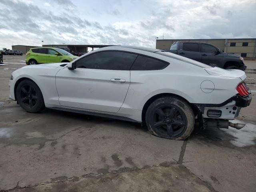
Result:
<svg viewBox="0 0 256 192"><path fill-rule="evenodd" d="M25 112L8 100L10 74L24 56L9 57L0 66L0 191L255 191L254 94L235 120L246 124L242 130L166 140L131 122ZM247 76L253 89L255 74Z"/></svg>

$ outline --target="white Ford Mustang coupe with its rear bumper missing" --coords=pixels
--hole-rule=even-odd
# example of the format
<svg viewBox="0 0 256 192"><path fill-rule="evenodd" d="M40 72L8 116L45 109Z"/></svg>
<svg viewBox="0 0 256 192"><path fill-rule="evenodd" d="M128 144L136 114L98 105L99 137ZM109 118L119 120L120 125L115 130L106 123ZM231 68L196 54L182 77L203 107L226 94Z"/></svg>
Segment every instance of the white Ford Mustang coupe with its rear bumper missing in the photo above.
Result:
<svg viewBox="0 0 256 192"><path fill-rule="evenodd" d="M156 136L186 139L195 121L240 129L228 120L252 99L241 70L224 70L161 50L110 46L70 63L12 73L10 99L27 112L45 107L144 122Z"/></svg>

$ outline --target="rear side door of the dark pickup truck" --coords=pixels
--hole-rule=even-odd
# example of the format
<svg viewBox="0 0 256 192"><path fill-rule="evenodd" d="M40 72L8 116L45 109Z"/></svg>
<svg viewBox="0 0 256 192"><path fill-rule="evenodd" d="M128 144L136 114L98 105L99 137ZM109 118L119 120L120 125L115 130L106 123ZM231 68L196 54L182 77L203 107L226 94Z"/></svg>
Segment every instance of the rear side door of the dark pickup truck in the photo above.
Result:
<svg viewBox="0 0 256 192"><path fill-rule="evenodd" d="M201 61L201 53L199 52L198 43L181 42L179 55L196 61Z"/></svg>

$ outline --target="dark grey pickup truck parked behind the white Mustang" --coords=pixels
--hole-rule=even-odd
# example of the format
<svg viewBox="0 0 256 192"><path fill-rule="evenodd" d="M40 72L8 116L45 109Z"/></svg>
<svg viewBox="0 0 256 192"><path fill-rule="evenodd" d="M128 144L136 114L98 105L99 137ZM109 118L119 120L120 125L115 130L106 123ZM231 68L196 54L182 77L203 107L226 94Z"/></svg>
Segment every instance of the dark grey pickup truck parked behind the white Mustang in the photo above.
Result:
<svg viewBox="0 0 256 192"><path fill-rule="evenodd" d="M184 56L201 63L224 69L245 70L244 58L224 53L218 47L203 42L179 41L170 46L168 52Z"/></svg>

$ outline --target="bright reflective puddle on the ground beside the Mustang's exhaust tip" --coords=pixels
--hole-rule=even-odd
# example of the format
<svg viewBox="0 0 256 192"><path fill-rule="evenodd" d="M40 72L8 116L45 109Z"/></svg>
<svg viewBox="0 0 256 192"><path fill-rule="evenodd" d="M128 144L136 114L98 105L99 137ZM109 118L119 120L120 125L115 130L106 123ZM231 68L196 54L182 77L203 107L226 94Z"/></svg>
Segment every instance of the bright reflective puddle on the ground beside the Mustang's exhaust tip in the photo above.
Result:
<svg viewBox="0 0 256 192"><path fill-rule="evenodd" d="M227 134L233 136L232 140L229 142L237 147L246 147L256 144L256 125L248 122L243 122L240 120L232 120L232 123L244 123L244 126L240 130L229 127L228 129L222 129Z"/></svg>

